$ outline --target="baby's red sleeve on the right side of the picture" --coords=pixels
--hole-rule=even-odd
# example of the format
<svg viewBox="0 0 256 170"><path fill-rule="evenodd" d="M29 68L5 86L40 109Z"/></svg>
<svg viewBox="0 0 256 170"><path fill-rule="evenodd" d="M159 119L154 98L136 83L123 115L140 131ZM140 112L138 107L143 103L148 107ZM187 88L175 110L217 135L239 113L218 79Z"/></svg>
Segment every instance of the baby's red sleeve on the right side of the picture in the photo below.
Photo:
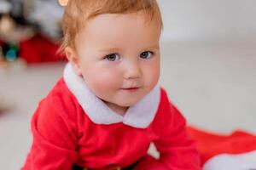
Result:
<svg viewBox="0 0 256 170"><path fill-rule="evenodd" d="M171 170L201 169L195 143L185 130L186 121L177 108L170 104L164 90L161 90L159 111L157 128L160 138L154 144L160 152L160 162Z"/></svg>

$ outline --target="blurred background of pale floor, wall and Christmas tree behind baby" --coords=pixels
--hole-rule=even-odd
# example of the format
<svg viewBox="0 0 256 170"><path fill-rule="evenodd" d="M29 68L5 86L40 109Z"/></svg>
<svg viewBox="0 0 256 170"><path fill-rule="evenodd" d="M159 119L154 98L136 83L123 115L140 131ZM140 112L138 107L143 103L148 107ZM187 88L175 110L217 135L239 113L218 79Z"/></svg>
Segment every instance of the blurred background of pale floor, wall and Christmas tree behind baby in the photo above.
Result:
<svg viewBox="0 0 256 170"><path fill-rule="evenodd" d="M256 1L158 0L160 84L189 125L256 133ZM62 75L56 0L0 0L0 165L16 170L38 101Z"/></svg>

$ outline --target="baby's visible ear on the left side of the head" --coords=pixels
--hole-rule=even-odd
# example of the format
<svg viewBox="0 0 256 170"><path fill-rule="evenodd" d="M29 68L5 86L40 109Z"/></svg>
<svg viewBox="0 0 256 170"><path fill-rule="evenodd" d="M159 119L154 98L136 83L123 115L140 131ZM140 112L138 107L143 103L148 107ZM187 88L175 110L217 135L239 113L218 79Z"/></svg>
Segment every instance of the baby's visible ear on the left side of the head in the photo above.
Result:
<svg viewBox="0 0 256 170"><path fill-rule="evenodd" d="M82 71L79 64L79 56L76 51L73 48L67 46L65 48L65 54L68 61L71 63L71 65L73 65L73 71L75 71L78 76L82 76Z"/></svg>

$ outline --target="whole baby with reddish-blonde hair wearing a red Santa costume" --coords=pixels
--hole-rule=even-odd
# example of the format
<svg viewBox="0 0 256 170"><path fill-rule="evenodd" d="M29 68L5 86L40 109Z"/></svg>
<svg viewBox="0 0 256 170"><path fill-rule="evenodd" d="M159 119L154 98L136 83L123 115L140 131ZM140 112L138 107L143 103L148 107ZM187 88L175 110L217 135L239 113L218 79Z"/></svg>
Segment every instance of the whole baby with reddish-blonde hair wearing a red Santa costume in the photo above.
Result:
<svg viewBox="0 0 256 170"><path fill-rule="evenodd" d="M23 170L201 169L183 116L158 85L161 29L155 0L69 0L69 63L32 117Z"/></svg>

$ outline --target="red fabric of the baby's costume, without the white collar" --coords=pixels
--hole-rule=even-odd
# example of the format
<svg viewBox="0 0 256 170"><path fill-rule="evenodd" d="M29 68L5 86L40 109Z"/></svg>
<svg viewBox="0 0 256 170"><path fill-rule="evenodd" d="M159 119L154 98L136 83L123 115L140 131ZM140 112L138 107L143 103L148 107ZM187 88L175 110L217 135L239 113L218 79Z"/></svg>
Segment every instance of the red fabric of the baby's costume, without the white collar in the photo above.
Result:
<svg viewBox="0 0 256 170"><path fill-rule="evenodd" d="M22 170L71 169L73 164L90 168L110 164L127 167L147 155L152 141L160 151L160 160L148 159L145 165L150 163L159 169L172 170L201 169L195 143L185 131L183 116L170 105L163 89L160 98L154 121L146 128L121 122L96 124L84 114L61 79L32 117L32 149Z"/></svg>

